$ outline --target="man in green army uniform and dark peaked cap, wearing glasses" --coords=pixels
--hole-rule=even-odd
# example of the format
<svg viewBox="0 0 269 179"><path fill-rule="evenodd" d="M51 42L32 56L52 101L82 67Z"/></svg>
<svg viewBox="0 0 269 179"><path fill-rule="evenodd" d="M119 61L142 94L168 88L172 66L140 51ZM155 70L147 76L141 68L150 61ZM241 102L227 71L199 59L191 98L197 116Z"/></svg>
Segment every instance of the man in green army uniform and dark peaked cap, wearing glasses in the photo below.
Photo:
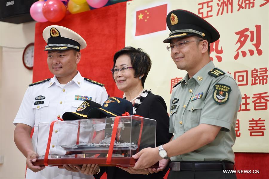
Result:
<svg viewBox="0 0 269 179"><path fill-rule="evenodd" d="M175 85L170 100L169 143L146 148L133 156L135 169L168 163L170 178L236 178L233 170L237 111L241 93L233 77L216 68L209 56L209 44L218 31L187 10L173 10L166 18L171 31L163 42L180 70L187 75ZM166 160L164 162L163 160ZM152 169L152 172L163 167Z"/></svg>

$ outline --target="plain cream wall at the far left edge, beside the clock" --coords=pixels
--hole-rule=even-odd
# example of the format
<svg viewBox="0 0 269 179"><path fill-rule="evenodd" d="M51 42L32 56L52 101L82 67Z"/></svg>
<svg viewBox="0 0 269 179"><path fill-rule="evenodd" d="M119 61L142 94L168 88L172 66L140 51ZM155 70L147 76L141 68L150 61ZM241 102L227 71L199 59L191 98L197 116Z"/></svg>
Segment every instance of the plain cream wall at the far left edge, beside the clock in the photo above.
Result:
<svg viewBox="0 0 269 179"><path fill-rule="evenodd" d="M32 83L33 71L22 63L24 49L34 42L35 22L11 24L0 22L0 154L4 161L0 164L0 178L24 178L24 155L13 140L15 126L12 124L21 104L28 84Z"/></svg>

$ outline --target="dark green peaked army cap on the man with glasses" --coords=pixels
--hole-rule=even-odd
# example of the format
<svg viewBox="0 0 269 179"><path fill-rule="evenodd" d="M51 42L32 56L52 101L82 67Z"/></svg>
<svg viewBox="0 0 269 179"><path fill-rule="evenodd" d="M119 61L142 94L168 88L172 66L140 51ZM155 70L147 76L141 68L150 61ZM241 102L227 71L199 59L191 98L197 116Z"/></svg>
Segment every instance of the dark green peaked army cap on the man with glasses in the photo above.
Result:
<svg viewBox="0 0 269 179"><path fill-rule="evenodd" d="M172 10L166 17L166 24L171 33L163 42L170 43L172 38L199 36L209 43L219 38L218 31L203 18L187 10Z"/></svg>

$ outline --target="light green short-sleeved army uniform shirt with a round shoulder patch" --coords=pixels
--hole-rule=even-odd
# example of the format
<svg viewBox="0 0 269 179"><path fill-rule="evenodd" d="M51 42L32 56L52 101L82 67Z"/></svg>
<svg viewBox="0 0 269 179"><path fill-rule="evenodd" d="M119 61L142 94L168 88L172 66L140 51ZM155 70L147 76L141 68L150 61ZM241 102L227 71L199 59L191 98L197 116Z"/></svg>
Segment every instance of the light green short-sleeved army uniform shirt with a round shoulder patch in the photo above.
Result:
<svg viewBox="0 0 269 179"><path fill-rule="evenodd" d="M175 85L170 100L169 132L178 138L199 124L220 126L215 140L195 151L174 156L171 161L231 161L235 143L237 111L241 92L234 78L212 61L192 78L188 74ZM180 143L178 144L180 145Z"/></svg>

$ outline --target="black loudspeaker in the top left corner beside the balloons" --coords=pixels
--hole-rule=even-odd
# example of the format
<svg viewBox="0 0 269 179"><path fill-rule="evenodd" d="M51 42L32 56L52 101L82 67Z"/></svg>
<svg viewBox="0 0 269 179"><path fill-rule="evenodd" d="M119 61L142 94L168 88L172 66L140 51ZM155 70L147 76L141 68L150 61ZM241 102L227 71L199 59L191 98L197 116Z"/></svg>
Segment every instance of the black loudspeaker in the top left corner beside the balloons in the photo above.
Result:
<svg viewBox="0 0 269 179"><path fill-rule="evenodd" d="M0 0L0 21L20 24L33 21L31 5L38 0Z"/></svg>

